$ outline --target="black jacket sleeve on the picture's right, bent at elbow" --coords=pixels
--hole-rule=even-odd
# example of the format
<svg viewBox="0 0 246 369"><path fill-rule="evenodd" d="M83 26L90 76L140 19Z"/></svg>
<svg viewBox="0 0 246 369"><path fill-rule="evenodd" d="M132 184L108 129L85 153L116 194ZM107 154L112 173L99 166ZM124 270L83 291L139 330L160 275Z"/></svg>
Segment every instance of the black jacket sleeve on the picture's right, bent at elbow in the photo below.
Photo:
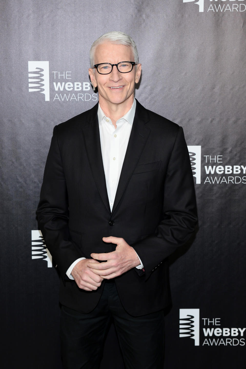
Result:
<svg viewBox="0 0 246 369"><path fill-rule="evenodd" d="M171 151L163 191L162 220L155 233L131 245L143 263L146 278L188 241L197 223L194 181L181 127Z"/></svg>

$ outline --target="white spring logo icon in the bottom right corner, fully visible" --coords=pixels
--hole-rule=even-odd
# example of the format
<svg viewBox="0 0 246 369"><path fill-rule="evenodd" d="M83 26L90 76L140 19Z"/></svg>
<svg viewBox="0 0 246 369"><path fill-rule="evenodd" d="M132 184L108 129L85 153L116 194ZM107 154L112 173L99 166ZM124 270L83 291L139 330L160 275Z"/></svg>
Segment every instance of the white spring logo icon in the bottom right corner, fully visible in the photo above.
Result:
<svg viewBox="0 0 246 369"><path fill-rule="evenodd" d="M179 309L179 337L194 339L199 346L200 309Z"/></svg>

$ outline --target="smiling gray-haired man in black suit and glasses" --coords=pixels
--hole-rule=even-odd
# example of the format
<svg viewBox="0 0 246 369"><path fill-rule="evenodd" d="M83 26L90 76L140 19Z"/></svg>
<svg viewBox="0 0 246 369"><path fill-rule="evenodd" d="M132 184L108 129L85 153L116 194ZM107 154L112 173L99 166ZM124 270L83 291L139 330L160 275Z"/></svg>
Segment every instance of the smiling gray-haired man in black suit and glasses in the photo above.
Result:
<svg viewBox="0 0 246 369"><path fill-rule="evenodd" d="M197 221L188 150L134 99L128 35L101 36L90 57L99 105L54 128L37 210L61 273L63 365L98 368L113 317L126 368L162 368L166 258Z"/></svg>

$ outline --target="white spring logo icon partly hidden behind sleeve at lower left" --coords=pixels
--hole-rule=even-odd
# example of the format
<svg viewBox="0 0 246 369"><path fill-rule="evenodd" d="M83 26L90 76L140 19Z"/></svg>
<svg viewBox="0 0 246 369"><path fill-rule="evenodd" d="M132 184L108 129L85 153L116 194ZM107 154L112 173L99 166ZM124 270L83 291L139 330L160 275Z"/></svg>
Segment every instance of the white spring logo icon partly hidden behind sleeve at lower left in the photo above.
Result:
<svg viewBox="0 0 246 369"><path fill-rule="evenodd" d="M39 230L32 231L32 259L43 259L47 262L47 267L52 268L52 256Z"/></svg>

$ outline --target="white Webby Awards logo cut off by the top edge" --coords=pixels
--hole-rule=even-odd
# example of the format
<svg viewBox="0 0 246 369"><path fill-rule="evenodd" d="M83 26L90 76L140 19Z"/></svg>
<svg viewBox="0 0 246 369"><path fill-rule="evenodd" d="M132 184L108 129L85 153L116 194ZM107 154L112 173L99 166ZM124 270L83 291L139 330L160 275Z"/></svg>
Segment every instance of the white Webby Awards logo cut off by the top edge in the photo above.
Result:
<svg viewBox="0 0 246 369"><path fill-rule="evenodd" d="M230 2L231 1L231 2ZM206 0L206 7L204 0L183 0L183 3L193 3L199 6L199 13L242 13L246 10L246 5L242 3L245 0ZM198 9L198 8L197 8Z"/></svg>

